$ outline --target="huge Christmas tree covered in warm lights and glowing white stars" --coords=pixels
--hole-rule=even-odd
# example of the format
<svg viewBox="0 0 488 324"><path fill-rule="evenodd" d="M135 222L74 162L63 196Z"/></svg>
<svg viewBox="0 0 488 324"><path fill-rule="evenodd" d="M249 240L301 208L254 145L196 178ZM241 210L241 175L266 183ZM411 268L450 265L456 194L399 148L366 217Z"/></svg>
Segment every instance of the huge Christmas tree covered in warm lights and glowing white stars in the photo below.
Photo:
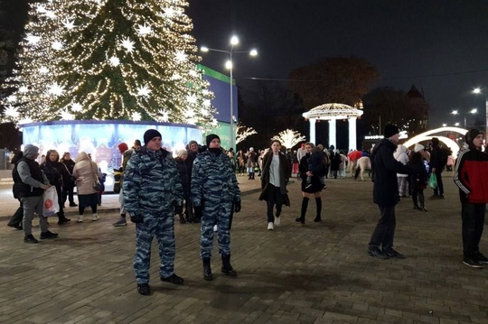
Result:
<svg viewBox="0 0 488 324"><path fill-rule="evenodd" d="M209 125L212 94L181 0L32 5L2 122L125 119Z"/></svg>

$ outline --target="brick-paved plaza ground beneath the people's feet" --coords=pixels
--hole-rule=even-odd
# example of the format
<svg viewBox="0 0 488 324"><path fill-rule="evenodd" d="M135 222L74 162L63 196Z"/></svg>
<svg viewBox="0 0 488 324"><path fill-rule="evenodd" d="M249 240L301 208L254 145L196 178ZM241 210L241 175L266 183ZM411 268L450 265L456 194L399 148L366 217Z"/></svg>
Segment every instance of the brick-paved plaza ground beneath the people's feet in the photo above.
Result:
<svg viewBox="0 0 488 324"><path fill-rule="evenodd" d="M240 176L245 195L231 230L238 277L221 273L215 242L214 280L204 281L200 227L176 223L175 272L184 284L159 281L153 245L150 296L136 292L134 224L112 227L116 195L104 196L99 221L77 224L76 208L67 208L70 224L51 221L58 239L28 245L6 226L18 203L3 185L0 323L488 323L488 268L462 263L460 203L452 173L444 175L446 199L427 199L427 213L413 210L411 199L398 205L396 249L405 260L366 252L379 218L369 179L328 180L324 221L313 222L312 200L305 225L295 221L300 182L291 183L292 206L268 231L258 179Z"/></svg>

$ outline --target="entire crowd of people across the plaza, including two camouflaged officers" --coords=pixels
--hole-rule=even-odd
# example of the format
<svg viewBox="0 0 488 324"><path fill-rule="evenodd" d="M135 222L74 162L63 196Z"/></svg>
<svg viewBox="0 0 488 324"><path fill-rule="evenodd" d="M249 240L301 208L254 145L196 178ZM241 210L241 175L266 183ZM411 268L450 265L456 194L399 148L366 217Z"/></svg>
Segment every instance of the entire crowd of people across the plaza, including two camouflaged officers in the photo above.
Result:
<svg viewBox="0 0 488 324"><path fill-rule="evenodd" d="M488 202L488 154L482 152L484 134L471 130L465 135L467 147L455 162L455 184L459 187L463 219L463 262L472 267L488 264L488 259L479 251L483 234L485 204ZM333 147L325 150L322 145L304 143L296 153L283 150L282 144L273 140L270 147L255 153L239 150L226 152L216 134L206 136L204 145L190 141L185 150L173 157L162 148L162 135L155 129L144 134L144 145L136 140L132 148L127 143L118 145L123 155L120 171L119 193L120 218L114 227L136 224L136 273L137 292L151 293L149 268L151 244L156 238L161 259L160 279L163 282L183 284L183 278L174 273L174 219L180 223L201 223L200 257L203 279L213 280L211 255L214 233L218 236L221 272L237 276L230 264L230 228L234 212L241 209L237 174L248 173L249 180L258 172L261 181L259 200L267 203L267 229L280 225L283 206L290 206L286 185L294 173L301 180L302 204L296 222L305 224L309 200L314 199L316 215L314 222L322 221L322 191L327 188L325 179L345 178L347 156ZM399 145L399 128L386 125L384 138L371 150L371 178L373 202L380 208L380 219L371 235L368 254L380 259L398 258L405 255L394 249L396 228L395 206L400 197L411 196L414 208L427 211L423 190L427 177L435 174L437 186L433 199L444 198L442 171L446 164L439 141L432 139L430 150L420 143L411 152ZM14 157L14 198L20 207L9 226L23 229L25 243L38 243L32 233L34 214L39 215L41 239L55 238L42 217L43 193L54 187L59 199L58 224L70 221L64 214L64 204L79 208L78 222L84 220L85 208L90 208L91 220L99 220L99 185L102 179L99 167L88 153L80 152L76 161L70 153L60 154L55 150L46 153L40 165L36 160L39 148L28 144L23 153ZM244 165L244 167L242 166ZM243 169L244 168L244 169ZM76 186L78 205L73 199Z"/></svg>

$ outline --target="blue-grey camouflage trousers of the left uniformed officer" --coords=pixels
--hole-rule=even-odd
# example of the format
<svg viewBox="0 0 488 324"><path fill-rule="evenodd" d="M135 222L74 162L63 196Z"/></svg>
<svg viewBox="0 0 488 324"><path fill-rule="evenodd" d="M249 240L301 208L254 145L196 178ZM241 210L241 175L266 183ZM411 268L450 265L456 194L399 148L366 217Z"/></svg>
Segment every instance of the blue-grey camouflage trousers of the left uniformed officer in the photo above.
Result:
<svg viewBox="0 0 488 324"><path fill-rule="evenodd" d="M151 243L156 237L159 245L159 275L169 277L174 273L174 215L147 215L143 224L136 224L136 255L134 256L134 272L137 283L149 282L151 265Z"/></svg>

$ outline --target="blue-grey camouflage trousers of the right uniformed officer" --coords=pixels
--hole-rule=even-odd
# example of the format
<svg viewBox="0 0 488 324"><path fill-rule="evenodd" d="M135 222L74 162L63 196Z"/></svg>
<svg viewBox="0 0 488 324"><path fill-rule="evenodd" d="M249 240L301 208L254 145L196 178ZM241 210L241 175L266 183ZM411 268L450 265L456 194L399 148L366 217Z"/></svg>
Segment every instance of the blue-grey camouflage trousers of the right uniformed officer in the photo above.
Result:
<svg viewBox="0 0 488 324"><path fill-rule="evenodd" d="M211 206L208 206L211 205ZM213 226L217 224L219 254L230 255L230 208L232 202L205 202L202 212L202 237L200 240L200 257L211 258L213 246Z"/></svg>

